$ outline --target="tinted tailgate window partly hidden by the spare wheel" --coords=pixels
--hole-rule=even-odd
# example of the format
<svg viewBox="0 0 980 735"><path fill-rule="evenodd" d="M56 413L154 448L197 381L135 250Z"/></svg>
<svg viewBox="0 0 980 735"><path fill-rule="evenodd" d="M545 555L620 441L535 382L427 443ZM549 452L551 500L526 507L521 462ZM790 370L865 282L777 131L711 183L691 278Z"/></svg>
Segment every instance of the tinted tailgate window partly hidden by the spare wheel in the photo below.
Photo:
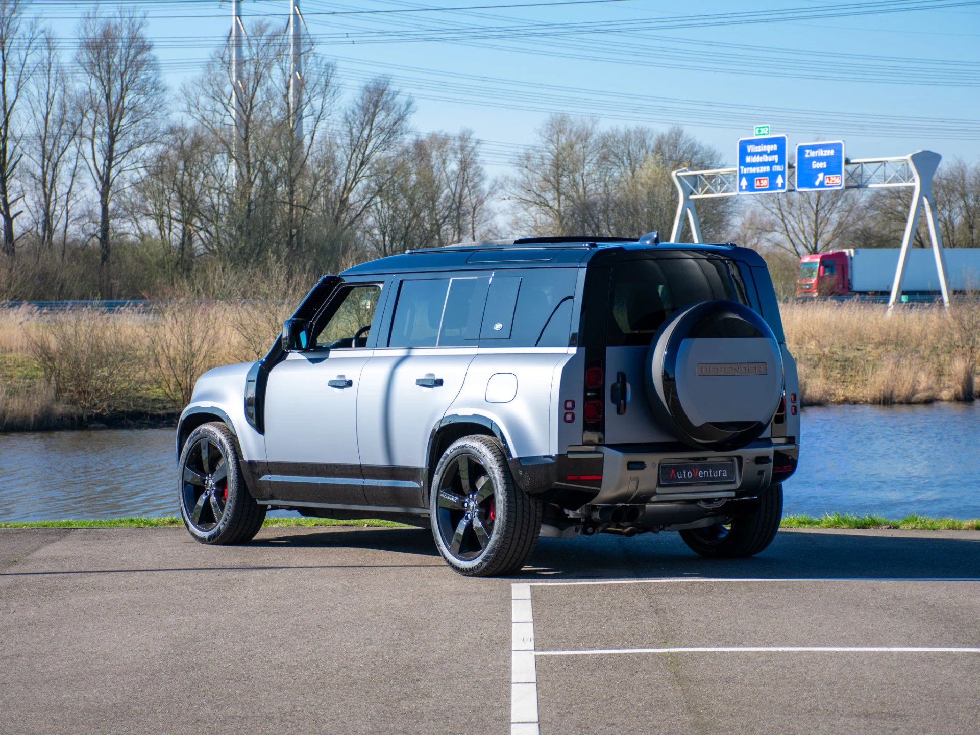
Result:
<svg viewBox="0 0 980 735"><path fill-rule="evenodd" d="M657 258L613 266L607 344L649 345L664 319L689 304L726 299L748 304L745 284L720 258Z"/></svg>

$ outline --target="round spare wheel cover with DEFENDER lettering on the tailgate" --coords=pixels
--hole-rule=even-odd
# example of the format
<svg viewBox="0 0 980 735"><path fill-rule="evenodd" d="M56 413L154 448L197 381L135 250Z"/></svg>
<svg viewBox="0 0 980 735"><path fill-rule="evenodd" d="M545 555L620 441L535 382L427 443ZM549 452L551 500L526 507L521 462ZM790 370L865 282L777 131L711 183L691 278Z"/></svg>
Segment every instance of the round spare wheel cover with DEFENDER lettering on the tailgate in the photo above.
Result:
<svg viewBox="0 0 980 735"><path fill-rule="evenodd" d="M666 319L645 363L654 415L697 449L760 437L783 394L783 360L769 325L734 301L705 301Z"/></svg>

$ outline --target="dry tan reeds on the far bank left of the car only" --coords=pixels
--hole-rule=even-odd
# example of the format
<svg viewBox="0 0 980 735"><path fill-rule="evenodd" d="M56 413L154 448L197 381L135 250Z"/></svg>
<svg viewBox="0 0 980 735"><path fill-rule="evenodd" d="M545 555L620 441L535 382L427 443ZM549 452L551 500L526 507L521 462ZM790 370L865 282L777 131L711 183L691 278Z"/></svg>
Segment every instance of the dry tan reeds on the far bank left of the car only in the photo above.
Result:
<svg viewBox="0 0 980 735"><path fill-rule="evenodd" d="M187 298L151 313L0 310L0 430L172 417L201 373L265 354L282 312Z"/></svg>

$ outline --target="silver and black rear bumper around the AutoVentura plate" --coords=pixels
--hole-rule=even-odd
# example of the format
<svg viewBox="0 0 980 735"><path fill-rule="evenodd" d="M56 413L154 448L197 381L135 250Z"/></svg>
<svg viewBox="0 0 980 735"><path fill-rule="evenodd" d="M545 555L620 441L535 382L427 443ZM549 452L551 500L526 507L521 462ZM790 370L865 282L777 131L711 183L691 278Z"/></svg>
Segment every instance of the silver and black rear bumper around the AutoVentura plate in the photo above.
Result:
<svg viewBox="0 0 980 735"><path fill-rule="evenodd" d="M629 444L573 447L556 457L511 461L517 485L527 493L549 490L593 495L592 505L741 498L782 482L796 471L799 445L759 439L729 452L698 451L680 444ZM663 463L734 462L735 479L726 483L663 486Z"/></svg>

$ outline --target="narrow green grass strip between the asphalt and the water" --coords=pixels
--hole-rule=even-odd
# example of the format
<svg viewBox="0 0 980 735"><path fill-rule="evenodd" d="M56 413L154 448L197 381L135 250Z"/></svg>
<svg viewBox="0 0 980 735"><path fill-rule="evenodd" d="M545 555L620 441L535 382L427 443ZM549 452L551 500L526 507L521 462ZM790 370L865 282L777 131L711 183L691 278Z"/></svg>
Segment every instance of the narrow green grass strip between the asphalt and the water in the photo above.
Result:
<svg viewBox="0 0 980 735"><path fill-rule="evenodd" d="M93 520L0 520L0 528L162 528L182 525L179 515L133 516L128 518L96 518ZM408 528L393 520L334 520L332 518L273 517L263 525L289 526L370 526L373 528ZM851 515L832 513L812 515L784 515L783 528L898 528L925 531L976 531L980 530L980 518L930 518L925 515L907 515L893 520L881 515Z"/></svg>

